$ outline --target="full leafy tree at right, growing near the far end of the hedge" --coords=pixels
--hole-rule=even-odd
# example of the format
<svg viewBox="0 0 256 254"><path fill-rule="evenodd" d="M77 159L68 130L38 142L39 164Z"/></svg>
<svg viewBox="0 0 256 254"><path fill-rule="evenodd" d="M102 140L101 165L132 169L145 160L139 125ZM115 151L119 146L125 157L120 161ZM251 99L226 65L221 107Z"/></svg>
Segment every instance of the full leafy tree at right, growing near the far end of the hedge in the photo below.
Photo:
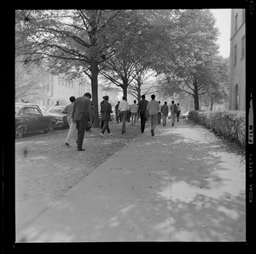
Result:
<svg viewBox="0 0 256 254"><path fill-rule="evenodd" d="M179 42L174 51L176 57L166 61L160 88L173 95L184 92L192 95L195 110L199 109L199 96L216 87L213 59L218 52L218 29L209 10L184 10L179 18ZM174 64L173 64L174 63Z"/></svg>

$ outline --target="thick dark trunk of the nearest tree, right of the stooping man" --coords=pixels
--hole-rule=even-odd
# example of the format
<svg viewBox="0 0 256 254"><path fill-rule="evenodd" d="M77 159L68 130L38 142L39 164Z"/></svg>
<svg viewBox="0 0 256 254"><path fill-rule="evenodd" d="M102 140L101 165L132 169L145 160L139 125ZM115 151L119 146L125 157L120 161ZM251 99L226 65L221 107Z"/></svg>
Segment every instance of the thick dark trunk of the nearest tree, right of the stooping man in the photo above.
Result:
<svg viewBox="0 0 256 254"><path fill-rule="evenodd" d="M100 121L99 121L99 110L98 110L98 62L92 61L90 64L91 68L91 93L92 93L92 102L93 102L93 127L99 128Z"/></svg>

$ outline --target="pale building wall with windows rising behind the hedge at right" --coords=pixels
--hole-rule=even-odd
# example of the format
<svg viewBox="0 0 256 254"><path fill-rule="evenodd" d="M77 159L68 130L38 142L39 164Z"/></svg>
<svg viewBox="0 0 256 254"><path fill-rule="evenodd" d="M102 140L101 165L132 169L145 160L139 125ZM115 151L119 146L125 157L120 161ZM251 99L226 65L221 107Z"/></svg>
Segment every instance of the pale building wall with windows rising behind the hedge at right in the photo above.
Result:
<svg viewBox="0 0 256 254"><path fill-rule="evenodd" d="M231 9L230 32L230 110L246 109L246 14Z"/></svg>

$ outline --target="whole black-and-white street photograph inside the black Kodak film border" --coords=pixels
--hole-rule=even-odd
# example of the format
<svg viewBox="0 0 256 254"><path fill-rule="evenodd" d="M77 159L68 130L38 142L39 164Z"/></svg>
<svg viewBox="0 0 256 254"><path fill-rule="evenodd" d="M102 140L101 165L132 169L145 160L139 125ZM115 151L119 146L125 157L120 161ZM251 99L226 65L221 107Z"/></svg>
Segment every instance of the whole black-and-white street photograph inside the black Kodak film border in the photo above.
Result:
<svg viewBox="0 0 256 254"><path fill-rule="evenodd" d="M15 243L246 242L247 12L15 9Z"/></svg>

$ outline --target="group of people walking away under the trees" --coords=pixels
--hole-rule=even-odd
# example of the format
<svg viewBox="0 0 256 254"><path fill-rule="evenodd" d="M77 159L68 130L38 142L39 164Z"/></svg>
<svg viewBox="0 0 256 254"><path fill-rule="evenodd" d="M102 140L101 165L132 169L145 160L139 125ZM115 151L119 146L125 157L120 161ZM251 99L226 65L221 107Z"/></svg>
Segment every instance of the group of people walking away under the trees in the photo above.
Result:
<svg viewBox="0 0 256 254"><path fill-rule="evenodd" d="M69 130L67 133L67 138L65 141L65 146L70 147L69 142L71 138L74 136L75 131L78 130L77 134L77 149L78 151L84 151L83 141L84 141L84 133L85 130L90 131L90 127L93 123L93 104L90 101L91 95L90 93L85 93L84 96L75 98L71 96L69 100L70 104L65 107L62 113L67 113L67 122L69 124ZM101 102L101 115L102 115L102 123L101 123L101 133L100 136L104 137L104 133L107 130L108 135L111 135L111 131L109 129L109 121L111 120L111 113L113 113L112 106L108 102L108 95L103 96L103 101ZM121 133L125 134L125 122L127 119L128 113L131 113L131 125L135 125L137 118L141 118L141 132L143 133L145 130L146 121L149 119L151 124L151 136L154 136L154 129L157 124L160 124L161 116L163 118L163 126L166 125L166 118L169 114L169 107L167 105L167 101L164 102L163 105L160 105L160 101L155 101L155 95L151 95L151 101L146 100L146 96L142 95L142 100L133 101L134 103L129 105L126 101L126 97L123 96L122 101L119 101L115 107L116 119L117 123L122 123ZM180 107L172 101L172 105L170 106L171 115L168 118L172 118L172 126L175 123L175 118L179 118Z"/></svg>

